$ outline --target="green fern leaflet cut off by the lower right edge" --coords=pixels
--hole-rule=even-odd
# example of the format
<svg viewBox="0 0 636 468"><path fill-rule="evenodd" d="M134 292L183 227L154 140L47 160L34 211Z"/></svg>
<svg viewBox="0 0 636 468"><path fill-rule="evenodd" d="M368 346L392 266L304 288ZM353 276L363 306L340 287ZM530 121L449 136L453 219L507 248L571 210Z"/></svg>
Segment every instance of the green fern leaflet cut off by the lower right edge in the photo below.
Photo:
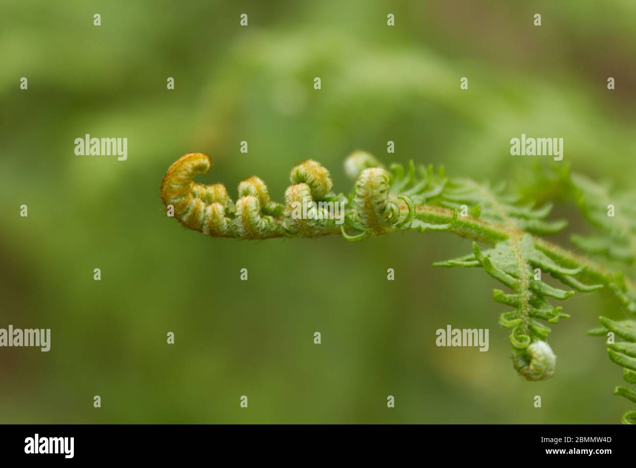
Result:
<svg viewBox="0 0 636 468"><path fill-rule="evenodd" d="M590 330L588 334L593 336L607 336L612 332L615 336L625 339L623 342L614 343L611 339L607 342L607 354L615 364L623 367L623 379L632 385L628 388L619 385L614 388L614 395L625 397L626 399L636 403L636 321L623 320L622 322L614 322L609 318L600 317L602 328ZM624 424L636 424L636 409L628 411L623 415Z"/></svg>

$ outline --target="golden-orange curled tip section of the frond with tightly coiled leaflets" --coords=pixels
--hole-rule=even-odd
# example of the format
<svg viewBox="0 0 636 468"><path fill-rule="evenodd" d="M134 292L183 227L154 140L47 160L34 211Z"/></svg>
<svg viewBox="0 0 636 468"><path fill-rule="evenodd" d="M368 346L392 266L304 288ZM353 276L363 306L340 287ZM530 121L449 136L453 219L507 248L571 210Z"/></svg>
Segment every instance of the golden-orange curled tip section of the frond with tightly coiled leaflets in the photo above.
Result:
<svg viewBox="0 0 636 468"><path fill-rule="evenodd" d="M174 217L188 229L237 239L318 237L339 230L330 215L343 195L331 192L331 176L319 162L305 160L294 166L284 204L270 199L265 182L257 176L239 183L235 203L224 185L193 181L210 167L209 156L190 153L172 164L163 178L163 204L172 206ZM331 213L326 213L329 209Z"/></svg>

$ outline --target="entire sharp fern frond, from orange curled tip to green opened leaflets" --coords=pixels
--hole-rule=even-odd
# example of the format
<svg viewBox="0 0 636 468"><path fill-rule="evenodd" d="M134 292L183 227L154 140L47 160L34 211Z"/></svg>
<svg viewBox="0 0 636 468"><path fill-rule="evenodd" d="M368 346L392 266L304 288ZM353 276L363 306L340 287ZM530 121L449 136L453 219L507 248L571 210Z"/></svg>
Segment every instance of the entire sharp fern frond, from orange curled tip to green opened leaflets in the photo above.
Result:
<svg viewBox="0 0 636 468"><path fill-rule="evenodd" d="M513 366L530 381L544 380L555 373L556 356L547 341L550 327L546 322L557 323L569 315L551 300L563 301L575 291L605 287L626 308L636 310L636 288L621 280L619 273L541 237L567 225L562 220L548 220L549 204L536 207L523 202L506 194L502 185L491 187L448 178L443 168L434 171L432 166L416 167L413 162L406 169L397 164L387 168L369 153L355 152L345 161L345 172L356 181L347 196L332 191L327 169L314 160L305 160L292 169L292 185L283 203L272 201L265 182L256 176L239 183L238 199L233 202L223 185L193 181L210 167L207 155L184 155L169 167L161 188L169 215L184 227L209 236L262 240L340 234L348 241L361 241L397 230L416 230L452 232L473 239L472 252L434 266L481 268L508 289L495 289L493 298L508 309L499 316L499 323L510 330ZM574 189L574 181L569 180L569 184L578 194L579 206L592 213L581 191ZM343 223L329 216L329 203L345 205ZM298 204L310 207L303 216L296 211ZM625 230L616 232L616 236L624 238ZM585 244L598 245L579 241L579 245ZM629 259L625 251L633 243L623 246L618 256ZM548 285L542 274L550 274L564 288ZM628 328L624 325L621 330ZM619 336L630 339L625 333ZM611 350L621 355L619 364L626 364L626 359L636 362L630 354L636 344L620 346ZM630 373L626 378L635 375ZM620 392L633 397L634 392L627 390ZM627 419L632 420L633 415Z"/></svg>

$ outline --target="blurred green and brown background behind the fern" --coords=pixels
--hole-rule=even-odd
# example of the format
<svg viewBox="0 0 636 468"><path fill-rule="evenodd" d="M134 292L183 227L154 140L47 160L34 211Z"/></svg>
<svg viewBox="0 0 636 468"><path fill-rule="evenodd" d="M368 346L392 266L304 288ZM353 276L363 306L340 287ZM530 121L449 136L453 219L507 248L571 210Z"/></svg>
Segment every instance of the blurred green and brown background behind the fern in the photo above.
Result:
<svg viewBox="0 0 636 468"><path fill-rule="evenodd" d="M563 304L556 376L529 383L496 283L431 267L469 241L211 239L165 216L159 186L204 152L198 180L233 197L258 174L282 201L307 158L348 192L356 149L523 182L541 159L509 154L525 133L564 139L551 164L633 187L634 17L631 0L2 0L0 327L50 328L52 348L0 349L0 422L618 423L621 369L584 334L622 316L604 294ZM74 155L86 133L128 138L128 160ZM588 229L567 202L554 216L572 220L564 245ZM490 351L437 348L448 324L490 329Z"/></svg>

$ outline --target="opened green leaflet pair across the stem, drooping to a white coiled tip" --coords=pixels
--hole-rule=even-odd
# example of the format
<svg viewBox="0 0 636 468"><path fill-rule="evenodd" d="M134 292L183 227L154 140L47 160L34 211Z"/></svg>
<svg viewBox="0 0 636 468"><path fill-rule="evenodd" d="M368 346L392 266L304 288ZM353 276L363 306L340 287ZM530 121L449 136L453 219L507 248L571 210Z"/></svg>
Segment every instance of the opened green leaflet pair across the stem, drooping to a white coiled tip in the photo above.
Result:
<svg viewBox="0 0 636 468"><path fill-rule="evenodd" d="M602 285L585 285L575 276L585 264L563 266L558 257L549 257L535 245L530 234L555 234L567 223L544 220L551 205L535 208L533 204L520 204L519 197L504 194L504 186L490 188L472 180L451 180L441 193L441 205L453 209L469 208L482 220L498 223L507 232L506 239L495 242L494 248L481 252L473 244L473 254L459 259L438 262L434 266L483 267L486 273L513 291L505 294L494 290L494 300L513 310L501 314L499 323L508 328L512 347L513 366L524 378L537 381L550 378L555 372L556 358L545 343L550 328L537 320L556 323L567 318L561 307L553 307L546 297L567 299L574 291L553 288L544 283L540 272L578 291L591 291ZM536 269L538 274L535 273ZM543 342L544 344L533 343Z"/></svg>

